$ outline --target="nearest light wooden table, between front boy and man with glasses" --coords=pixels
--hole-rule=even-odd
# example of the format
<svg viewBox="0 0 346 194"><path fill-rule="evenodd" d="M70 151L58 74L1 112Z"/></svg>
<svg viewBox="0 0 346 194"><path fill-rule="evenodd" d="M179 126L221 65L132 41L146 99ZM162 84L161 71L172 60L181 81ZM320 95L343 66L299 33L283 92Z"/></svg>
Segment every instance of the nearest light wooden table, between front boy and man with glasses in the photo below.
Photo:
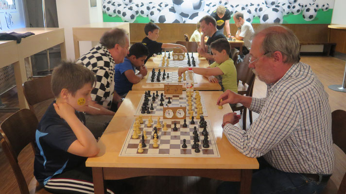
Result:
<svg viewBox="0 0 346 194"><path fill-rule="evenodd" d="M240 193L249 194L252 169L258 169L259 163L236 150L223 135L222 115L232 110L226 105L222 110L216 106L222 92L202 91L200 94L208 102L206 119L212 123L220 158L119 157L134 119L132 115L143 95L142 91L130 91L98 142L100 153L87 159L86 165L92 167L95 194L104 194L104 180L141 176L199 176L240 181Z"/></svg>

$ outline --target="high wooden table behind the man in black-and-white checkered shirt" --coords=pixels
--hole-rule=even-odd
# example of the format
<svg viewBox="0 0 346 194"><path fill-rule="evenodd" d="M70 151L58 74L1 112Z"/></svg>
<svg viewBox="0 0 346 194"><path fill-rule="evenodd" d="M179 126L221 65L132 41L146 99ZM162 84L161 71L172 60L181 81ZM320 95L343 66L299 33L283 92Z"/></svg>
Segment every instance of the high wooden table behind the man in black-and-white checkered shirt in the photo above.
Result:
<svg viewBox="0 0 346 194"><path fill-rule="evenodd" d="M104 32L114 28L124 29L127 32L130 40L130 25L128 22L100 22L72 28L75 58L78 59L81 56L79 50L79 41L98 42Z"/></svg>

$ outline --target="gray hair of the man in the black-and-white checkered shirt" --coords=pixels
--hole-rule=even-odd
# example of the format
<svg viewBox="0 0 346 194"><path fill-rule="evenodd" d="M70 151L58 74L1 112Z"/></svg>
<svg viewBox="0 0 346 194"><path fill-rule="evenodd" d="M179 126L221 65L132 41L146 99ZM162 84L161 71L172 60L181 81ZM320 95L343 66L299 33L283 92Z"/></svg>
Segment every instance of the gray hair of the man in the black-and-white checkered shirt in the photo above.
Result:
<svg viewBox="0 0 346 194"><path fill-rule="evenodd" d="M112 29L110 31L104 32L100 39L100 44L102 44L107 49L113 49L116 44L124 47L126 42L126 35L126 31L123 29Z"/></svg>

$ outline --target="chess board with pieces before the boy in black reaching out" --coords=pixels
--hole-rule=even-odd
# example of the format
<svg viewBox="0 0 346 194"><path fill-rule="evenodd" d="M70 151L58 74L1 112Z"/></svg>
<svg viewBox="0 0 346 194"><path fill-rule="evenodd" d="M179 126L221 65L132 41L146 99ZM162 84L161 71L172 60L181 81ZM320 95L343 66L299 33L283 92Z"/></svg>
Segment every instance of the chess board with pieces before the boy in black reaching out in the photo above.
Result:
<svg viewBox="0 0 346 194"><path fill-rule="evenodd" d="M166 52L162 54L162 59L160 61L159 67L165 68L165 67L188 67L188 66L198 66L198 60L195 60L193 56L193 52L185 53L185 56L183 59L172 59L171 52L168 52L166 55Z"/></svg>

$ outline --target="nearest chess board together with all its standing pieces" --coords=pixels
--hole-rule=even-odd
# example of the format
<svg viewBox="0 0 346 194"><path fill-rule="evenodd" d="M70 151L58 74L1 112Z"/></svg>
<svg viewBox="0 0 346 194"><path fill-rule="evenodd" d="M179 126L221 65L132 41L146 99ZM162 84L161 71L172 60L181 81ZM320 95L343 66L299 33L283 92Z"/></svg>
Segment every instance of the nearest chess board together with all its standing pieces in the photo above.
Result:
<svg viewBox="0 0 346 194"><path fill-rule="evenodd" d="M203 116L163 121L140 117L133 121L119 156L220 157L211 123Z"/></svg>

